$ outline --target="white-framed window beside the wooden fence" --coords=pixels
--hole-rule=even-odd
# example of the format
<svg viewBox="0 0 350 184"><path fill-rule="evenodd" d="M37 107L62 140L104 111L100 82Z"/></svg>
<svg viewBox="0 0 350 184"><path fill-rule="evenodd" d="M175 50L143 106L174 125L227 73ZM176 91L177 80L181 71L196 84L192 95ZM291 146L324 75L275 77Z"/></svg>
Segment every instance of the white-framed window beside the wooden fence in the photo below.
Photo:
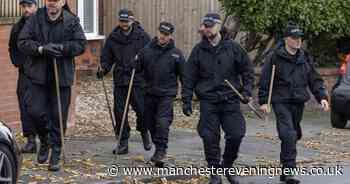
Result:
<svg viewBox="0 0 350 184"><path fill-rule="evenodd" d="M98 36L98 0L78 0L78 16L86 37Z"/></svg>

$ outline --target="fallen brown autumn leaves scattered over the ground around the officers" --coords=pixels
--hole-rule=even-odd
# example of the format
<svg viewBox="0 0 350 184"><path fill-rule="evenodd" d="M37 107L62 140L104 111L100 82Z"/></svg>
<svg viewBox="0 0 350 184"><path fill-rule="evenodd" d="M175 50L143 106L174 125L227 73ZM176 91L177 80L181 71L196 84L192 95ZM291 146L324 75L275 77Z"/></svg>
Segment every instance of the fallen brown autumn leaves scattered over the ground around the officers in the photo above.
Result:
<svg viewBox="0 0 350 184"><path fill-rule="evenodd" d="M112 81L106 81L109 89L109 99L112 100ZM172 124L172 133L169 145L169 163L174 166L204 167L204 154L201 151L201 142L196 133L198 122L198 105L195 105L194 115L182 115L181 104L175 104L175 119ZM47 172L47 165L39 165L36 155L24 155L19 183L103 183L123 178L126 183L142 183L145 177L111 177L107 169L113 164L121 167L152 167L149 157L152 152L145 153L141 149L141 139L133 128L130 139L131 153L127 156L115 158L112 148L115 143L111 120L109 118L101 81L93 77L86 77L80 84L80 94L76 101L76 122L67 132L66 163L64 169L57 173ZM279 140L275 131L274 122L254 119L251 113L246 114L247 136L242 144L241 154L237 160L239 166L277 166ZM347 130L332 129L327 114L305 113L304 138L299 142L298 164L302 166L332 166L350 163L350 134ZM272 119L272 118L270 118ZM135 114L129 114L129 121L134 127ZM183 144L193 144L194 148L186 148ZM20 133L17 140L23 144ZM185 141L185 142L181 142ZM192 141L192 142L191 142ZM254 145L264 146L263 153L256 153ZM248 145L248 146L245 146ZM251 146L250 146L251 145ZM271 150L271 151L270 151ZM117 159L117 160L116 160ZM152 181L148 178L147 181ZM153 183L205 183L206 177L167 181L154 178Z"/></svg>

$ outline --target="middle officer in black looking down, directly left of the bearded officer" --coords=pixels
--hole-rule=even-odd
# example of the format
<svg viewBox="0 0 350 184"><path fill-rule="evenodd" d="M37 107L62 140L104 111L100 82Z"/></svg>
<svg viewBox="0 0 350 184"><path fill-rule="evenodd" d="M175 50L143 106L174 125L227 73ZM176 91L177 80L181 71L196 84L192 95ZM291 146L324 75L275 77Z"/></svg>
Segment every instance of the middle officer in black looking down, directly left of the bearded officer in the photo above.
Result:
<svg viewBox="0 0 350 184"><path fill-rule="evenodd" d="M175 47L172 34L175 27L161 22L158 36L138 55L146 82L145 123L156 147L152 162L161 163L168 148L169 127L173 121L173 102L178 91L185 58Z"/></svg>

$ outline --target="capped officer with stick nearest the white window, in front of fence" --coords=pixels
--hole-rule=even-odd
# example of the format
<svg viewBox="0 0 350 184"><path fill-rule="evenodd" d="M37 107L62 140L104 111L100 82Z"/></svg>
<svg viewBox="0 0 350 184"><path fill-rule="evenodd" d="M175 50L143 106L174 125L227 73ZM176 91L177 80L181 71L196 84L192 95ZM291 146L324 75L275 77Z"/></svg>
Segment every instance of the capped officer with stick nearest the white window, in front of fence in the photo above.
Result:
<svg viewBox="0 0 350 184"><path fill-rule="evenodd" d="M119 11L119 25L112 31L106 40L101 53L101 69L97 72L97 78L102 78L115 65L114 78L114 114L116 117L117 127L114 127L116 137L118 137L126 97L128 93L128 85L132 73L133 60L136 54L150 41L149 35L138 26L132 26L129 18L129 10L121 9ZM144 114L144 79L142 72L136 72L134 85L131 93L131 106L136 112L137 127L141 133L145 150L151 149L149 133L143 122ZM126 119L118 153L128 153L128 139L130 137L130 126Z"/></svg>

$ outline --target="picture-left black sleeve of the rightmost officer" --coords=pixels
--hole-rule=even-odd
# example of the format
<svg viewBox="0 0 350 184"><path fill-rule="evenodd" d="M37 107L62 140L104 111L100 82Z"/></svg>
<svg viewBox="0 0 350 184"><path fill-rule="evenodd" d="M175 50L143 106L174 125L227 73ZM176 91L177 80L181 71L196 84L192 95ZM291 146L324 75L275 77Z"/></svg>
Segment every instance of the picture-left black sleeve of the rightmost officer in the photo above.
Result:
<svg viewBox="0 0 350 184"><path fill-rule="evenodd" d="M261 71L261 76L259 80L259 91L258 91L258 97L259 97L259 104L267 104L268 96L269 96L269 87L271 82L271 75L272 75L272 53L269 54L266 59L264 66Z"/></svg>

